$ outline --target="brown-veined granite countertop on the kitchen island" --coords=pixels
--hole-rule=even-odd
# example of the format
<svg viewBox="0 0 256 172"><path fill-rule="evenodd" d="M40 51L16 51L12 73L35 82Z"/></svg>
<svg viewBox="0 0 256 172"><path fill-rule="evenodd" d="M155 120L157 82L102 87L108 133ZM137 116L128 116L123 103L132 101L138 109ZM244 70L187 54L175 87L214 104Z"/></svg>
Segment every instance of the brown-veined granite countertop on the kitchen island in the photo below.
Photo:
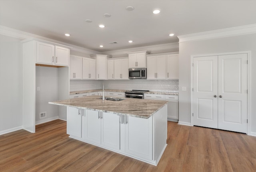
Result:
<svg viewBox="0 0 256 172"><path fill-rule="evenodd" d="M103 101L100 96L93 95L49 103L148 119L166 105L168 101L133 98L125 98L122 101Z"/></svg>

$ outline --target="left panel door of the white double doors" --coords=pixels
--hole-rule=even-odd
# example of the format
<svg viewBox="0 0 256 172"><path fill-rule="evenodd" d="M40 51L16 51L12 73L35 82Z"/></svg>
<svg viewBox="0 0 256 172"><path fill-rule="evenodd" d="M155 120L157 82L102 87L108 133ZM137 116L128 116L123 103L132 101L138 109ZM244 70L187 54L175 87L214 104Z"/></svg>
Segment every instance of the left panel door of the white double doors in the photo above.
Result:
<svg viewBox="0 0 256 172"><path fill-rule="evenodd" d="M218 56L193 59L194 125L218 128Z"/></svg>

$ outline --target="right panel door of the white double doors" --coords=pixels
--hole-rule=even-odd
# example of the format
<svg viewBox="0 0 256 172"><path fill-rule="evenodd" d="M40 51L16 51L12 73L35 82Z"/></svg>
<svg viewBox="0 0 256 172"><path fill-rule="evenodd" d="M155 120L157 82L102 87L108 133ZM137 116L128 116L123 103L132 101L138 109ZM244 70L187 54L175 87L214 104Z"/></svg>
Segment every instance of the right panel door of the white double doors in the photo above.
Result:
<svg viewBox="0 0 256 172"><path fill-rule="evenodd" d="M218 129L247 133L247 54L218 61Z"/></svg>

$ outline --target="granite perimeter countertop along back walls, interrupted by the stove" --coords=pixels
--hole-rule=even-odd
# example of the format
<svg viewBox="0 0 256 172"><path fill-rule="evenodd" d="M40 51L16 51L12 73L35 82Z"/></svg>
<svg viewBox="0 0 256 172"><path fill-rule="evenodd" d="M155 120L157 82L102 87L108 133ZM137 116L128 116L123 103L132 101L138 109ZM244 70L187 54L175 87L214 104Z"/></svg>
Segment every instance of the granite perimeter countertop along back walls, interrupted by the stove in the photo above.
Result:
<svg viewBox="0 0 256 172"><path fill-rule="evenodd" d="M92 90L83 90L83 91L72 91L69 94L83 94L83 93L91 93L91 92L96 92L96 91L102 91L102 89L92 89ZM109 91L109 92L126 92L130 90L120 90L120 89L104 89L104 91ZM179 95L177 92L167 92L167 91L148 91L144 94L162 94L162 95Z"/></svg>

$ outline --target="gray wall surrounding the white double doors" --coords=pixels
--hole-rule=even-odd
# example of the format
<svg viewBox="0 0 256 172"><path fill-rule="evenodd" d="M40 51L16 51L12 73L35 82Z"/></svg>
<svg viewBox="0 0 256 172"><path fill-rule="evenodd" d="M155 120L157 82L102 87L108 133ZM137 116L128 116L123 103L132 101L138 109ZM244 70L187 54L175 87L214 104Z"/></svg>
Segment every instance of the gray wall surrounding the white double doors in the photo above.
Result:
<svg viewBox="0 0 256 172"><path fill-rule="evenodd" d="M190 123L190 59L191 55L251 51L252 118L251 131L256 132L256 34L180 42L179 121ZM187 87L182 91L181 87Z"/></svg>

